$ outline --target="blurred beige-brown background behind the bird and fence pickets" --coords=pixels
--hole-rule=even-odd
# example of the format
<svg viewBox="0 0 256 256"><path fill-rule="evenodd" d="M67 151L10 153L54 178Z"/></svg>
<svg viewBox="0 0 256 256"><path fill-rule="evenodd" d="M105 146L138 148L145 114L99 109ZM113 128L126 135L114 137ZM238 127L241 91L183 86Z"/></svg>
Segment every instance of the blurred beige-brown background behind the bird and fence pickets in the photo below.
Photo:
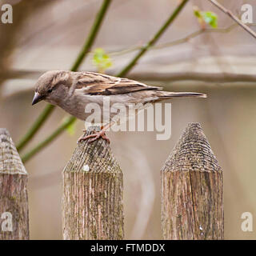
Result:
<svg viewBox="0 0 256 256"><path fill-rule="evenodd" d="M31 106L33 86L46 70L69 70L86 40L102 1L1 1L13 6L12 24L0 24L0 126L17 143L46 106ZM117 74L139 46L170 16L178 0L113 0L92 47L102 48ZM256 1L220 1L241 17L241 7ZM218 15L218 27L202 24L194 6ZM255 30L254 24L250 27ZM201 31L195 36L191 34ZM225 238L255 239L242 232L241 215L256 217L256 54L255 41L208 1L189 1L158 43L127 74L170 91L199 91L207 99L172 100L172 135L109 132L111 148L124 175L126 239L161 239L160 170L189 122L200 122L224 174ZM89 54L79 70L97 71ZM241 78L241 74L247 74ZM67 114L57 108L20 154L32 149ZM29 173L30 238L62 239L62 170L82 134L65 131L26 162Z"/></svg>

